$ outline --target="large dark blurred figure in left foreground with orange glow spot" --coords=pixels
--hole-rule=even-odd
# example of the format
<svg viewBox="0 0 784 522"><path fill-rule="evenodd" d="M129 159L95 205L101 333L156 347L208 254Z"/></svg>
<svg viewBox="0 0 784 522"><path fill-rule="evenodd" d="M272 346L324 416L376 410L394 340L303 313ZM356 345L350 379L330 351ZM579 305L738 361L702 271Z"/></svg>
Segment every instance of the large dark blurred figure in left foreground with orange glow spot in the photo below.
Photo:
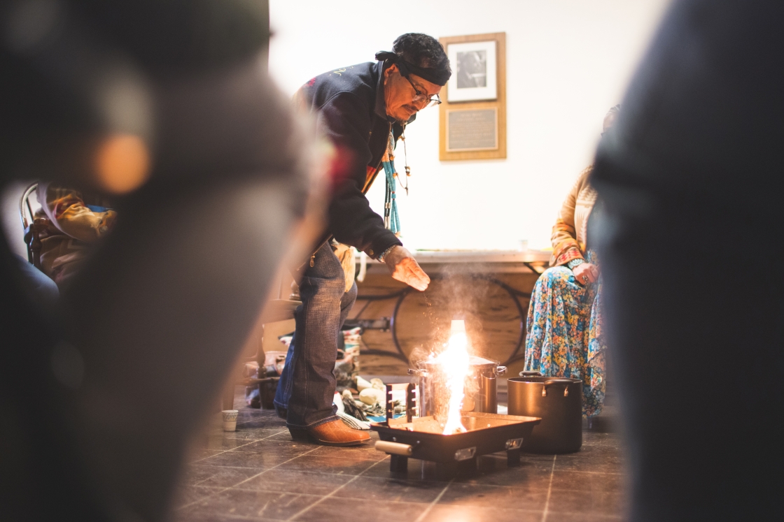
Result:
<svg viewBox="0 0 784 522"><path fill-rule="evenodd" d="M169 511L310 184L250 5L0 7L0 179L100 190L119 216L54 314L0 241L4 522Z"/></svg>

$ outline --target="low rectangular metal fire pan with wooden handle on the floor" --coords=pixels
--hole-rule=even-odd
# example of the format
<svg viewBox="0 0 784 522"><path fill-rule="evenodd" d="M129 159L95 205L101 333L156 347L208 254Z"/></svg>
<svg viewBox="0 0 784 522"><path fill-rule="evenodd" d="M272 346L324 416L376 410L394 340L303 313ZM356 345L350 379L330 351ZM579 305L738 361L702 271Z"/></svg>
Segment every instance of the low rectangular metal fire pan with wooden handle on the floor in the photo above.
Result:
<svg viewBox="0 0 784 522"><path fill-rule="evenodd" d="M533 428L542 420L539 417L499 415L497 413L462 412L463 426L468 431L459 434L441 434L433 417L418 417L407 423L372 423L371 429L379 432L381 441L376 449L404 458L430 460L436 463L456 463L474 459L478 455L495 452L514 452L510 463L519 462L522 441L530 437ZM392 444L389 444L392 443ZM393 459L394 461L395 459ZM394 463L393 463L394 470Z"/></svg>

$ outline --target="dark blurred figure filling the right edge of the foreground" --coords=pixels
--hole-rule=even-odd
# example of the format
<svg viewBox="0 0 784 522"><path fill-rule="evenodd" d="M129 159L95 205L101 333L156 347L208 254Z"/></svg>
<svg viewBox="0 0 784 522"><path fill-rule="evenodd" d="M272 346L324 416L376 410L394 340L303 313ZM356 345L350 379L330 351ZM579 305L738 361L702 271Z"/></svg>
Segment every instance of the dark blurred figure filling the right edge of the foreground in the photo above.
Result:
<svg viewBox="0 0 784 522"><path fill-rule="evenodd" d="M631 520L781 517L784 4L676 2L603 140Z"/></svg>

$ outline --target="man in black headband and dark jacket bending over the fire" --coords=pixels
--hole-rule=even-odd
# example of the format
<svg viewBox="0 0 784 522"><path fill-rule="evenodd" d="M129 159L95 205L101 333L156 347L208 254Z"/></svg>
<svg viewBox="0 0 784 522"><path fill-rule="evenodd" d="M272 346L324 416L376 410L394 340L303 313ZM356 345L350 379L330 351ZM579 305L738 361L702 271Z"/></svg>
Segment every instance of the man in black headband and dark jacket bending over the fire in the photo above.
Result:
<svg viewBox="0 0 784 522"><path fill-rule="evenodd" d="M394 279L423 291L430 278L372 211L365 193L383 162L394 156L406 124L419 110L441 103L438 93L452 71L441 44L426 34L401 35L392 52L378 52L376 60L314 77L294 101L316 118L319 133L334 144L336 162L343 165L332 180L329 236L385 262ZM346 446L370 438L347 427L332 405L336 340L357 297L353 259L345 265L348 282L325 241L299 273L303 304L296 310L296 332L275 394L278 415L297 441Z"/></svg>

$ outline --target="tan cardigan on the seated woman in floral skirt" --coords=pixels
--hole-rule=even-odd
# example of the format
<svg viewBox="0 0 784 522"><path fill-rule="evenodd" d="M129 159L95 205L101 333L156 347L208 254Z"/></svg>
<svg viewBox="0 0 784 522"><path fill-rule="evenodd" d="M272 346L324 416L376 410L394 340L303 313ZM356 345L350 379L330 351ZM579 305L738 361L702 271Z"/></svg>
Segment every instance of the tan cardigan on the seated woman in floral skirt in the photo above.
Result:
<svg viewBox="0 0 784 522"><path fill-rule="evenodd" d="M572 259L585 256L588 216L596 202L596 191L588 184L591 171L593 165L580 173L558 212L550 237L553 243L552 266L566 265Z"/></svg>

